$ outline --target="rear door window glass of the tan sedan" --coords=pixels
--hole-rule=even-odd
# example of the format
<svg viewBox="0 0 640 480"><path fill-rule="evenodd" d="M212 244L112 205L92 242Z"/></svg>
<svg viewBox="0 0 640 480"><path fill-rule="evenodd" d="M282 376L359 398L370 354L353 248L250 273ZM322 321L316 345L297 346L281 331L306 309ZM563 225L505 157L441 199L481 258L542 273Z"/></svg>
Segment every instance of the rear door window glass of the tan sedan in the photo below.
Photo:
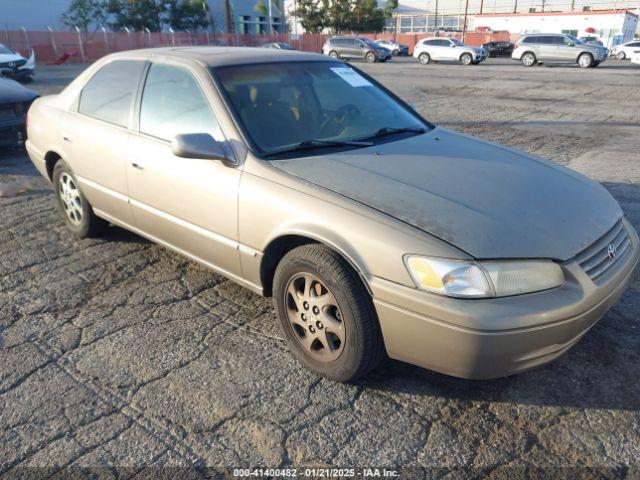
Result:
<svg viewBox="0 0 640 480"><path fill-rule="evenodd" d="M118 60L102 67L82 89L78 112L126 127L144 62Z"/></svg>

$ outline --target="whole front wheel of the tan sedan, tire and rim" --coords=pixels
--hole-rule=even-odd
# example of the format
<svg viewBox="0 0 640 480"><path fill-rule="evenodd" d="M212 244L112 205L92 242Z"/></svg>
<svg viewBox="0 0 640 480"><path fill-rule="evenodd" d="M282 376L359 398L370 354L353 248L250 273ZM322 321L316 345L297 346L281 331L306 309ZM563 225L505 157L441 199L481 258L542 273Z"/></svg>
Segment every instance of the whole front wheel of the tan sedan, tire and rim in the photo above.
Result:
<svg viewBox="0 0 640 480"><path fill-rule="evenodd" d="M289 348L318 375L353 381L384 358L371 296L351 265L330 248L310 244L287 253L276 268L273 294Z"/></svg>

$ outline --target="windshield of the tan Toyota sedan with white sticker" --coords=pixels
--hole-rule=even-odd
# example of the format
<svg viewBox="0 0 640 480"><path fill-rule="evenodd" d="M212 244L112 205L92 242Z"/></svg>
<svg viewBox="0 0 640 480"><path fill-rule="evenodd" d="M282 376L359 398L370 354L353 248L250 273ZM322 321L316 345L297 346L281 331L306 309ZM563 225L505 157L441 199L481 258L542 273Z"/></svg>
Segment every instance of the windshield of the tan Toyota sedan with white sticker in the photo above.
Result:
<svg viewBox="0 0 640 480"><path fill-rule="evenodd" d="M246 136L263 156L302 144L357 148L365 146L365 139L366 144L372 138L382 141L382 136L392 141L431 128L342 63L282 62L212 71Z"/></svg>

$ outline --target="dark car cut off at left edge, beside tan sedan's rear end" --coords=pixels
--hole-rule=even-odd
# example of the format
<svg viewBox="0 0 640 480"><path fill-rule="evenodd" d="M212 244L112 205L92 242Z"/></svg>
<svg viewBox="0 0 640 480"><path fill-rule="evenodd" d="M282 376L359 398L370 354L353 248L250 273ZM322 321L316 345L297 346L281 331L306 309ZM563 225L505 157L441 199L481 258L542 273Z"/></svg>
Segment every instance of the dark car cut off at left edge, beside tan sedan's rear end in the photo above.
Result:
<svg viewBox="0 0 640 480"><path fill-rule="evenodd" d="M36 92L0 77L0 147L16 147L26 139L26 116Z"/></svg>

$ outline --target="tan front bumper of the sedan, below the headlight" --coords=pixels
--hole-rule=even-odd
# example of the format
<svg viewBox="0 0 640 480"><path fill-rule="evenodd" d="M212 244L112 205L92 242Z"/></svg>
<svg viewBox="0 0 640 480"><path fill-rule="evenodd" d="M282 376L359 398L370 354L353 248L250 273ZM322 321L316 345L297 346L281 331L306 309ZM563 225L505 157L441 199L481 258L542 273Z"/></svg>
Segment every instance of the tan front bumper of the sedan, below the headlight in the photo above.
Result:
<svg viewBox="0 0 640 480"><path fill-rule="evenodd" d="M367 278L391 358L462 378L508 376L571 348L616 303L635 268L638 236L596 285L575 261L553 290L494 299L455 299Z"/></svg>

